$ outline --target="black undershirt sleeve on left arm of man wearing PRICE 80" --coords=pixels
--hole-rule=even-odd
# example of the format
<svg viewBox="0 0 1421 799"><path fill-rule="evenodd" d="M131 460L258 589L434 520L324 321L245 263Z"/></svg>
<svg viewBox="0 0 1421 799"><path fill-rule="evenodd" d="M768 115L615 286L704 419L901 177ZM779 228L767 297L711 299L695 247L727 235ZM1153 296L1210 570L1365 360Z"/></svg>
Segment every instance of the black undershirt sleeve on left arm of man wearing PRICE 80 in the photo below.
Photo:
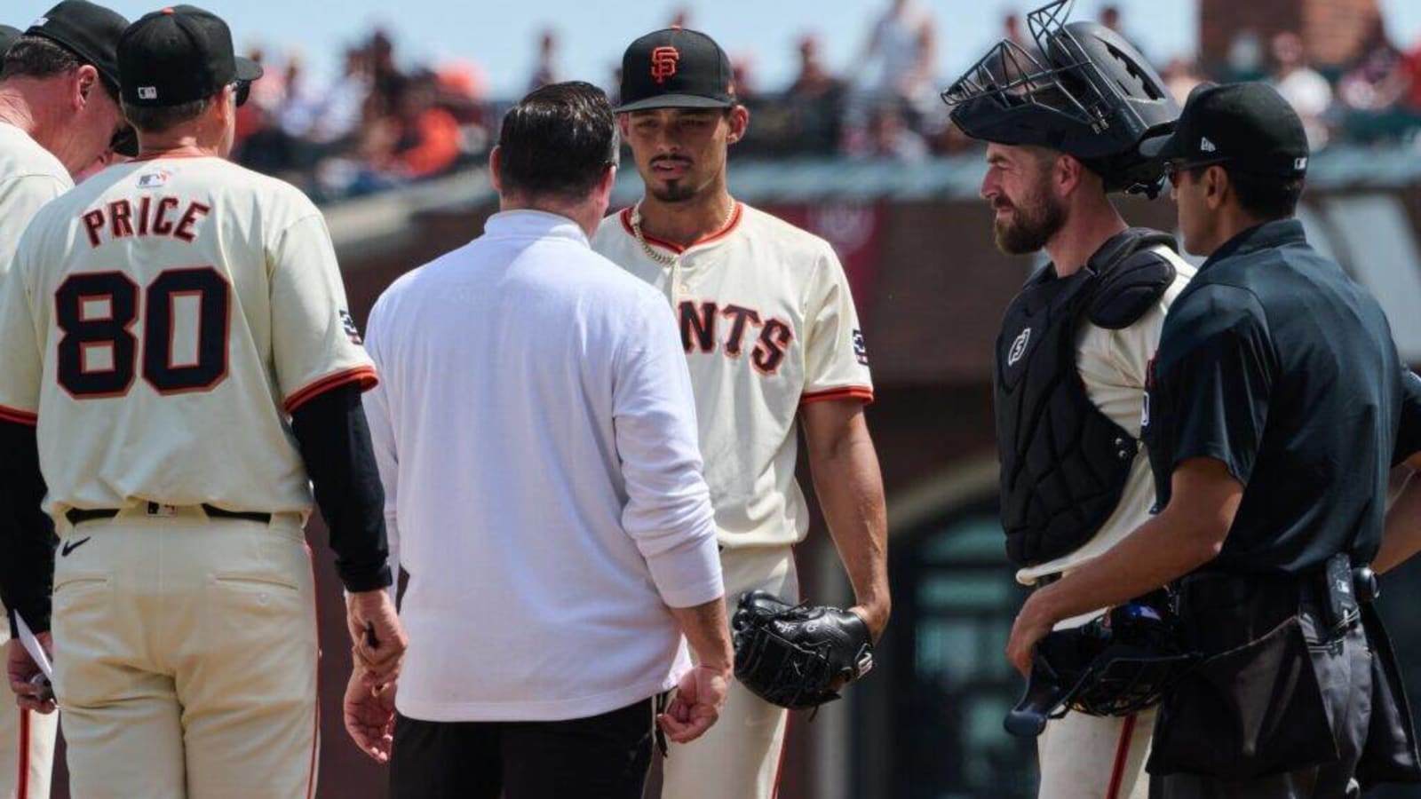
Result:
<svg viewBox="0 0 1421 799"><path fill-rule="evenodd" d="M54 522L44 502L44 475L34 425L0 421L0 597L36 633L50 628L54 584Z"/></svg>

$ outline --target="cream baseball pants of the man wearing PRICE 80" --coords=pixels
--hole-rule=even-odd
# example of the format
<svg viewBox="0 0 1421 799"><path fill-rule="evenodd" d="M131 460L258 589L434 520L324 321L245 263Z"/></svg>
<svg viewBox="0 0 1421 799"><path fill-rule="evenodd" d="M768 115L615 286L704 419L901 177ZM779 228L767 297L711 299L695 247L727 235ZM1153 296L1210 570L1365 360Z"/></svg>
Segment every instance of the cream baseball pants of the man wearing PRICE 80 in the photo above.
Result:
<svg viewBox="0 0 1421 799"><path fill-rule="evenodd" d="M297 515L60 525L55 694L82 799L308 799L317 627Z"/></svg>

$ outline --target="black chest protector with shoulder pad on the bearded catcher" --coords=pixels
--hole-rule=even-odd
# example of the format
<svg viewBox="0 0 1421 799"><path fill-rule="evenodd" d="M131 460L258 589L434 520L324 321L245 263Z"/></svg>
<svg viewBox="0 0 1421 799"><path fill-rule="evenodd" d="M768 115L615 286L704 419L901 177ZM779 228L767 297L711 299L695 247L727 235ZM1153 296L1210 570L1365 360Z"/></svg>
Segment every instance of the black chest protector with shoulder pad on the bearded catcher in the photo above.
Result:
<svg viewBox="0 0 1421 799"><path fill-rule="evenodd" d="M1002 526L1019 567L1088 542L1125 489L1138 442L1086 394L1077 340L1086 321L1120 330L1160 301L1175 277L1160 245L1175 246L1165 233L1131 227L1070 277L1042 269L1007 307L993 385Z"/></svg>

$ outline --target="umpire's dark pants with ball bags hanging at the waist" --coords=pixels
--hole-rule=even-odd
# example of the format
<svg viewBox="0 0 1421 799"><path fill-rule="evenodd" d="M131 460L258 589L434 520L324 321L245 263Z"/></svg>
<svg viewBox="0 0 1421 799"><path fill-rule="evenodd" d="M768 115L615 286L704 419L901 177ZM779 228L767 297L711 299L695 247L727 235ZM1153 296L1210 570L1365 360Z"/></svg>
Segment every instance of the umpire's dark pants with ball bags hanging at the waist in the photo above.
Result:
<svg viewBox="0 0 1421 799"><path fill-rule="evenodd" d="M1150 796L1154 799L1353 799L1371 721L1371 658L1361 624L1327 630L1323 597L1269 586L1265 580L1196 586L1184 593L1185 623L1206 655L1165 698L1155 721ZM1194 596L1191 596L1191 593ZM1313 591L1316 593L1316 591ZM1287 627L1287 618L1296 627ZM1292 648L1287 648L1287 645ZM1268 658L1276 657L1276 664ZM1297 664L1299 658L1309 661ZM1268 667L1260 667L1260 664ZM1235 671L1238 670L1238 671ZM1296 674L1297 680L1270 680ZM1306 678L1304 678L1306 675ZM1307 681L1314 682L1309 684ZM1307 684L1307 687L1302 687ZM1174 695L1174 694L1182 695ZM1263 776L1158 773L1160 761L1192 754L1228 771L1225 741L1249 741L1259 758L1290 768ZM1191 745L1192 741L1192 745ZM1219 751L1212 752L1214 748ZM1306 749L1316 749L1306 754ZM1330 752L1329 752L1330 751ZM1204 752L1212 752L1202 758ZM1268 752L1268 755L1265 755ZM1238 758L1245 752L1241 749ZM1202 771L1202 769L1201 769ZM1212 769L1211 769L1212 771Z"/></svg>

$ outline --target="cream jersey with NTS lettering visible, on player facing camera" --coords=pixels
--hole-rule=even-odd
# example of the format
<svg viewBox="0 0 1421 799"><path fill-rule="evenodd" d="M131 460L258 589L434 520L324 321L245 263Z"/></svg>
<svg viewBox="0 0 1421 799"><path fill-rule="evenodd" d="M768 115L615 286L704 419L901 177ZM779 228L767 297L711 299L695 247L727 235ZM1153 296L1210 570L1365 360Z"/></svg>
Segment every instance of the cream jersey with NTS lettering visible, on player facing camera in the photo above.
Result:
<svg viewBox="0 0 1421 799"><path fill-rule="evenodd" d="M661 289L691 368L705 476L722 545L790 545L809 532L794 482L804 402L871 401L868 354L848 280L828 242L737 203L726 227L689 247L608 216L593 249Z"/></svg>

